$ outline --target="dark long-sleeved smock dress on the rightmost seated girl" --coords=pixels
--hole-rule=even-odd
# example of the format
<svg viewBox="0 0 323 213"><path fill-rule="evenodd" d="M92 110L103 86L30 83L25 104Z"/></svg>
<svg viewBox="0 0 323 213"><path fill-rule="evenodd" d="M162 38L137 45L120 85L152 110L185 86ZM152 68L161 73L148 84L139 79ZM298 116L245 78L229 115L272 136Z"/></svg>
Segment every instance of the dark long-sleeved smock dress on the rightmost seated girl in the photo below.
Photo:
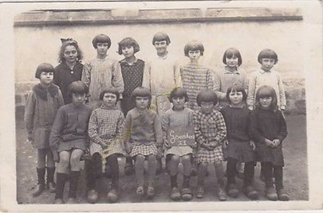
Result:
<svg viewBox="0 0 323 213"><path fill-rule="evenodd" d="M281 111L273 112L256 108L251 114L250 136L256 142L256 153L259 161L270 162L274 166L284 166L283 140L287 137L285 118ZM264 139L279 139L278 147L267 147Z"/></svg>

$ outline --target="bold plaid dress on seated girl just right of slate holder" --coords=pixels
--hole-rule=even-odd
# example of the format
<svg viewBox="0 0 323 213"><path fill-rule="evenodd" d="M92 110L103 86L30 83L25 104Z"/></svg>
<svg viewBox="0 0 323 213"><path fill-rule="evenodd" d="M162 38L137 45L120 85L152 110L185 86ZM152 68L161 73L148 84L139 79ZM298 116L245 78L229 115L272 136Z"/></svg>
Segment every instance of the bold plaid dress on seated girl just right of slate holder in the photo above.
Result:
<svg viewBox="0 0 323 213"><path fill-rule="evenodd" d="M193 114L195 140L198 149L195 156L195 162L198 163L214 163L223 161L222 143L227 135L227 128L222 114L213 110L209 114L203 114L201 110L197 110ZM202 148L202 144L210 142L218 143L213 150Z"/></svg>

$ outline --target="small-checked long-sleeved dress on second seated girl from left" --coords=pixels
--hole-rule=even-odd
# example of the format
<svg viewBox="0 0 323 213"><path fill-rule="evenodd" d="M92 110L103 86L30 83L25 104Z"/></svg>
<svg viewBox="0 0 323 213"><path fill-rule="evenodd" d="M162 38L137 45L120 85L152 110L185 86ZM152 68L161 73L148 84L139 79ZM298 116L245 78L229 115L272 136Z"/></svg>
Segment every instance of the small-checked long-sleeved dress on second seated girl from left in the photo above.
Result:
<svg viewBox="0 0 323 213"><path fill-rule="evenodd" d="M124 154L122 133L124 127L124 116L121 111L115 109L104 109L103 106L94 110L89 120L88 133L91 139L90 154L100 153L105 158L115 154ZM100 142L108 144L102 149ZM104 162L103 162L104 163Z"/></svg>

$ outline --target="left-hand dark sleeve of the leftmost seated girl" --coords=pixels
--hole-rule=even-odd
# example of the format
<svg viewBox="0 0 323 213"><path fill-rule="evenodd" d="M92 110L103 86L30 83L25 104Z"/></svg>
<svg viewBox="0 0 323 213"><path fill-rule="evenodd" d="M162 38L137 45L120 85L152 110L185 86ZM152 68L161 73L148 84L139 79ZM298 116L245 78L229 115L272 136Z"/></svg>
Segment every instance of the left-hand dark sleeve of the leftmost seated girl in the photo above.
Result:
<svg viewBox="0 0 323 213"><path fill-rule="evenodd" d="M56 114L55 121L51 127L49 135L49 146L52 150L57 150L61 140L61 132L64 128L64 111L62 108Z"/></svg>

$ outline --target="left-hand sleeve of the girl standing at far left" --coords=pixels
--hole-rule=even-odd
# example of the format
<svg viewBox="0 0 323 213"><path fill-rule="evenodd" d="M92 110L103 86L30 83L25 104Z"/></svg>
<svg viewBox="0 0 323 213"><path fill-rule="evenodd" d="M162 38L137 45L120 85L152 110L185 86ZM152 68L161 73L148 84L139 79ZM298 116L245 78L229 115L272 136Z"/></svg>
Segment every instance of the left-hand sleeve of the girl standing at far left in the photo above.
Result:
<svg viewBox="0 0 323 213"><path fill-rule="evenodd" d="M35 95L33 92L28 94L25 105L25 125L28 133L28 137L31 137L31 133L34 127L34 113L35 113Z"/></svg>

